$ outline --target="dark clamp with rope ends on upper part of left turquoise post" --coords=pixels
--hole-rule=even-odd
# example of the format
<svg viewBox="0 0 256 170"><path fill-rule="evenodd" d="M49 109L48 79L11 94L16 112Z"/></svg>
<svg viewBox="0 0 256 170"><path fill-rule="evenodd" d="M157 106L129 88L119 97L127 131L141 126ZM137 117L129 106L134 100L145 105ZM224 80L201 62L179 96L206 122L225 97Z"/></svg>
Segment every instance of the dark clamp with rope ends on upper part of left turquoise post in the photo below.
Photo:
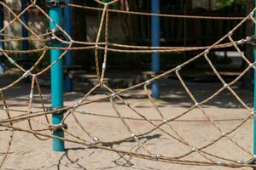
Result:
<svg viewBox="0 0 256 170"><path fill-rule="evenodd" d="M61 43L58 39L66 41L66 37L64 36L64 33L60 30L55 30L55 29L49 28L46 30L46 32L47 33L51 32L49 37L47 37L45 40L48 44Z"/></svg>

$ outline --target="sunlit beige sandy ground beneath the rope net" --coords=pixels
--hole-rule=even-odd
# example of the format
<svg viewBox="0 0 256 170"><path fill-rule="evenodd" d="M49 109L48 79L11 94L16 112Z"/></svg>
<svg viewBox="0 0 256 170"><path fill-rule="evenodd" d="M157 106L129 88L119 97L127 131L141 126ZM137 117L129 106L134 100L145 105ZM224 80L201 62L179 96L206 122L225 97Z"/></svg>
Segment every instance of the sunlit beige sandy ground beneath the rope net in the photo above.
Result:
<svg viewBox="0 0 256 170"><path fill-rule="evenodd" d="M0 77L1 87L9 84L14 79L10 77ZM218 82L187 82L191 92L195 94L195 98L198 101L206 99L208 96L217 91L221 87ZM252 107L253 105L253 92L238 90L235 84L233 88L241 96L241 99ZM174 79L166 79L160 82L161 86L161 99L157 100L157 105L160 106L160 111L164 113L166 118L172 118L177 116L183 111L189 109L192 105L191 99L183 90L181 84ZM6 99L11 109L19 109L26 111L28 97L29 97L30 85L24 82L20 82L18 86L11 88L6 92ZM87 88L84 87L84 93ZM50 105L50 94L48 88L43 88L44 99L47 106ZM41 111L40 102L37 98L37 92L35 93L35 99L32 105L32 111ZM90 99L99 99L104 96L106 91L99 89L90 96ZM65 105L73 105L83 96L82 93L68 93L65 94ZM124 99L131 104L137 111L141 112L148 118L159 119L160 116L154 110L154 107L146 98L143 88L132 90L129 94L124 94ZM122 116L129 116L138 118L134 112L127 109L125 105L122 105L116 100L116 105ZM249 113L244 109L241 104L230 94L228 91L218 95L218 97L209 101L206 105L203 105L207 115L212 119L227 119L227 118L245 118L249 116ZM3 105L1 103L1 108ZM122 139L130 137L130 133L125 129L123 123L117 118L107 118L104 116L90 116L87 113L102 114L105 116L116 116L113 108L108 100L104 100L90 105L84 105L79 107L78 111L84 111L83 113L76 113L79 117L79 121L93 134L102 141L113 141L115 139ZM18 116L21 113L11 111L12 116ZM6 118L3 110L0 111L0 118ZM189 111L188 114L179 118L179 120L205 120L206 116L201 114L201 111L195 109ZM42 117L37 120L44 121ZM230 122L216 122L224 132L228 132L230 129L236 127L241 121ZM127 120L127 123L131 127L134 133L143 133L152 128L148 122ZM67 119L68 130L73 134L79 135L82 139L89 139L78 125L74 122L73 117L69 116ZM20 122L16 124L17 127L28 128L27 122ZM172 122L172 126L183 136L183 139L189 141L191 145L195 147L208 144L213 139L216 139L221 135L218 130L212 126L211 122ZM33 127L44 127L38 123L33 122ZM172 132L170 128L163 127L168 132ZM71 138L66 135L67 138ZM253 121L249 120L238 128L234 133L230 134L230 138L236 140L238 144L241 144L246 150L253 150ZM180 156L183 153L191 150L189 147L178 143L176 140L170 138L159 130L149 133L146 137L141 139L146 145L148 150L152 153L159 153L164 156ZM0 131L0 159L3 158L4 150L9 142L9 132ZM229 169L228 167L196 167L196 166L184 166L175 165L169 163L162 163L157 161L147 161L140 158L122 156L120 154L107 151L107 150L93 150L88 149L84 145L66 143L65 152L54 152L52 150L52 140L41 141L36 139L32 134L15 132L14 142L9 151L7 160L4 162L3 169L141 169L141 170L166 170L166 169ZM145 154L142 148L137 146L134 141L124 142L121 144L113 144L114 149L119 150L131 150L138 153ZM216 144L213 144L206 149L212 154L223 156L226 158L234 159L237 161L246 161L250 158L243 150L232 144L230 140L224 138L219 140ZM194 153L190 156L186 156L185 159L206 161L202 156ZM215 158L212 158L216 160ZM216 160L218 161L218 160ZM250 169L250 168L240 168Z"/></svg>

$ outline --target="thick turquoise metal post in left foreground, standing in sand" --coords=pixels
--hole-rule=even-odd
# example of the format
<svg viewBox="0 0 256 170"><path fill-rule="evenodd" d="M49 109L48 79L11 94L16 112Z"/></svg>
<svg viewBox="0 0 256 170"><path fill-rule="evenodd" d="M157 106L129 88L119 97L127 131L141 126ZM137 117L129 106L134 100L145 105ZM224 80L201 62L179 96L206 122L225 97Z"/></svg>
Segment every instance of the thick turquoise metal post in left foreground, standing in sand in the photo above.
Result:
<svg viewBox="0 0 256 170"><path fill-rule="evenodd" d="M62 25L62 14L60 7L50 7L49 16L58 26ZM56 30L56 26L53 22L50 22L49 27ZM61 47L60 43L53 44L55 47ZM50 50L50 61L54 62L61 55L60 49L51 49ZM53 109L58 109L63 107L63 66L62 59L55 63L50 70L51 78L51 104ZM53 124L60 124L63 119L63 114L54 114L52 116ZM55 130L53 135L64 137L64 132L62 130ZM64 141L61 139L53 139L53 150L55 151L64 151Z"/></svg>

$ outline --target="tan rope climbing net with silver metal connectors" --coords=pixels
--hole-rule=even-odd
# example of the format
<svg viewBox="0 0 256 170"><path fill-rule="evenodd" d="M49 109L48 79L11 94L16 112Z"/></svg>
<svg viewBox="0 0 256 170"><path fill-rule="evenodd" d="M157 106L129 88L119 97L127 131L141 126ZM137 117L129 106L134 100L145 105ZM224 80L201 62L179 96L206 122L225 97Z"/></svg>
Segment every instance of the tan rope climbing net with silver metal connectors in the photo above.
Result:
<svg viewBox="0 0 256 170"><path fill-rule="evenodd" d="M14 135L18 132L25 132L25 133L32 133L36 138L40 140L47 140L47 139L61 139L65 142L74 143L74 144L82 144L85 147L89 149L100 149L100 150L110 150L113 152L117 152L122 155L127 156L134 156L146 160L151 161L162 161L167 163L174 163L174 164L182 164L182 165L195 165L195 166L223 166L223 167L256 167L255 165L251 164L250 161L237 161L227 156L219 156L218 154L213 154L212 152L208 151L207 149L209 147L214 147L215 144L217 144L222 139L227 139L230 141L231 144L234 145L234 147L238 148L242 152L245 152L248 156L250 156L253 159L253 153L245 148L242 144L239 144L236 142L236 139L232 138L232 134L235 133L240 127L242 127L246 122L251 120L254 116L254 111L252 108L250 108L244 101L241 99L241 97L235 92L233 88L231 88L232 85L234 85L236 82L238 82L241 77L243 77L247 71L251 69L255 69L255 63L251 62L247 57L241 52L240 45L250 42L252 40L252 37L246 37L244 39L240 39L235 41L232 38L233 33L242 25L245 24L245 22L250 21L253 22L253 24L256 24L256 20L253 18L255 8L253 11L248 14L246 17L207 17L207 16L183 16L183 15L172 15L172 14L148 14L148 13L138 13L138 12L132 12L132 11L123 11L123 10L113 10L110 9L109 6L113 5L114 3L118 3L119 0L113 0L110 3L102 3L101 1L96 0L97 3L102 4L103 8L90 8L86 6L81 6L77 4L67 4L70 7L73 8L82 8L84 10L101 10L101 20L98 26L98 31L96 35L96 41L95 42L80 42L74 40L70 35L67 34L67 31L65 31L61 26L58 26L54 20L52 20L49 17L49 14L47 14L43 8L39 7L37 4L37 0L31 1L27 7L20 12L20 14L15 14L15 12L12 10L12 8L9 8L9 6L6 3L0 2L0 4L5 8L9 14L11 14L14 19L10 20L9 23L3 27L2 30L0 30L0 33L3 37L5 37L3 40L0 40L1 42L22 42L22 41L37 41L39 43L40 48L34 48L29 50L14 50L14 49L4 49L1 48L0 52L3 54L3 57L5 57L11 65L14 65L19 71L22 72L22 76L17 78L14 82L8 84L7 86L0 88L0 94L1 94L1 105L3 105L3 111L6 113L7 118L1 118L0 119L0 132L9 132L9 146L7 150L4 152L2 161L0 162L0 168L3 166L3 162L5 161L6 157L9 155L9 150L11 148L11 145L13 143ZM37 8L37 10L44 15L44 17L49 21L52 22L58 29L47 31L44 34L37 34L36 31L33 31L29 26L26 26L26 24L20 20L20 16L22 14L25 14L29 9L31 8ZM108 39L108 27L109 27L109 13L111 12L119 12L119 13L125 13L125 14L141 14L141 15L159 15L162 17L178 17L178 18L194 18L194 19L206 19L206 20L241 20L240 23L235 26L230 32L228 32L224 37L221 37L218 42L215 42L212 44L212 46L207 47L147 47L147 46L134 46L134 45L124 45L119 43L113 43L109 42ZM15 22L19 22L21 26L25 27L27 31L31 34L30 37L19 37L19 36L12 36L8 35L6 33L3 33L9 26L14 24ZM59 36L59 33L62 33L64 37L67 37L66 39L63 39ZM63 44L62 47L53 45L48 45L47 37L54 37L56 42L60 42ZM102 38L103 37L103 38ZM101 40L104 40L103 42ZM224 42L225 40L229 40L229 42ZM65 46L64 46L65 44ZM79 45L79 47L74 47L74 45ZM228 47L234 47L236 48L236 51L240 54L241 59L243 59L247 63L247 68L241 72L241 74L236 77L235 80L232 82L225 82L224 78L220 75L218 70L216 69L216 65L212 63L212 60L209 57L209 53L211 53L211 50L214 48L228 48ZM51 64L44 67L44 69L38 71L38 65L40 65L42 62L44 62L44 58L47 55L47 52L51 49L61 49L62 53L61 55L55 59ZM55 65L60 59L64 58L68 51L70 50L87 50L92 49L94 50L94 56L96 60L96 77L97 77L97 84L91 88L88 93L84 94L84 96L79 99L78 102L74 103L73 105L64 106L60 109L48 111L45 106L44 101L44 94L42 93L40 82L38 81L38 77L42 76L44 73L50 70L50 68ZM145 82L138 83L134 86L131 86L129 88L120 89L118 91L114 91L112 88L108 87L108 85L104 82L105 72L107 68L108 63L108 53L109 52L115 52L115 53L135 53L135 54L151 54L151 53L172 53L172 52L186 52L186 51L202 51L200 54L197 54L191 59L186 60L181 65L177 65L177 67L172 68L169 71L166 71L164 73L161 73L160 75L157 75L156 77L153 77L151 79L148 79ZM103 52L103 60L102 63L99 60L99 53L100 51ZM22 65L19 65L15 59L12 57L13 54L39 54L38 60L32 65L32 67L28 70L22 67ZM219 82L222 83L222 87L219 88L214 94L207 97L207 99L203 99L201 101L197 100L195 98L195 95L191 92L186 82L184 82L183 77L180 74L180 71L183 69L184 66L189 65L195 59L204 58L207 60L208 65L212 68L212 71L215 73L215 75L218 77ZM163 77L166 77L170 74L175 74L177 77L177 80L182 85L184 92L186 92L190 99L193 101L193 105L190 105L189 108L186 111L180 112L178 115L173 116L171 118L167 118L165 116L165 113L160 110L160 106L157 104L157 102L152 98L150 94L150 90L148 90L148 86L150 86L151 82L160 80ZM8 101L8 95L6 92L10 88L14 88L15 85L19 84L23 79L26 77L31 77L31 87L30 87L30 94L29 94L29 101L27 105L27 111L21 111L21 110L14 110L10 107L9 101ZM93 92L96 91L98 88L103 88L108 91L108 94L101 96L100 98L96 99L88 99ZM154 110L156 113L160 116L160 119L151 119L148 118L148 116L145 116L141 111L138 111L137 108L133 107L124 97L122 97L121 94L125 94L130 92L131 90L137 89L137 88L143 88L144 95L147 96L148 102L150 105L154 107ZM228 132L224 131L222 127L220 127L216 120L212 118L212 116L209 116L207 114L207 111L205 111L205 108L203 107L204 104L206 104L208 101L212 100L214 97L218 96L218 94L221 94L224 90L228 90L232 96L234 96L237 101L245 108L248 115L244 119L238 119L236 121L239 121L239 124L236 125L236 127L232 127ZM38 91L38 96L40 100L40 108L42 111L32 111L32 104L34 101L35 91ZM93 132L90 132L90 130L84 126L82 122L80 122L79 117L77 114L79 112L79 108L95 104L97 102L101 102L103 100L108 100L111 104L110 108L114 111L115 115L113 116L106 116L108 119L110 118L116 118L119 119L119 121L123 124L124 131L130 133L129 136L126 136L123 139L116 139L111 141L103 141L100 137L96 137L93 135ZM133 118L130 116L123 116L122 111L119 110L119 107L117 106L117 102L120 102L122 105L125 105L126 109L128 109L133 115L136 115L139 118ZM175 126L173 126L173 122L177 122L180 120L180 118L183 118L183 116L188 115L191 111L194 111L195 109L198 110L198 113L202 114L207 118L207 122L210 122L212 124L212 127L214 127L218 131L218 136L215 139L212 139L212 141L209 141L207 144L204 145L196 145L192 144L192 142L189 139L186 139L183 137L183 133L179 132ZM20 115L13 115L12 112L19 112ZM53 114L59 114L64 112L64 118L59 125L54 125L51 122L49 122L49 116ZM101 116L100 114L90 114L90 116ZM36 118L38 117L44 117L44 121L38 121ZM84 136L78 136L75 133L71 132L67 128L67 119L69 117L73 117L73 120L76 122L76 127L78 127L80 130L83 131ZM151 127L144 130L142 133L136 133L136 131L131 127L128 120L130 119L136 119L143 122L147 122L148 125ZM229 121L229 120L226 120ZM28 122L28 128L26 127L20 127L17 124L20 122ZM42 127L39 129L35 129L33 127L33 123L37 123L37 125L41 125ZM160 122L160 123L159 123ZM113 124L114 126L114 124ZM52 135L51 133L55 130L60 129L63 130L65 133L67 133L67 136L65 138L57 137ZM170 155L153 152L152 150L148 149L148 145L143 142L143 137L146 137L150 133L154 132L160 132L163 135L165 135L169 139L173 139L176 143L182 144L184 147L187 148L187 151L181 150L176 153L175 156L172 155L172 150L169 151ZM207 138L207 137L206 137ZM120 150L118 148L114 148L113 144L123 144L125 142L133 142L137 144L137 148L140 148L139 151L133 151L133 150ZM197 154L197 156L200 156L201 159L190 159L189 156Z"/></svg>

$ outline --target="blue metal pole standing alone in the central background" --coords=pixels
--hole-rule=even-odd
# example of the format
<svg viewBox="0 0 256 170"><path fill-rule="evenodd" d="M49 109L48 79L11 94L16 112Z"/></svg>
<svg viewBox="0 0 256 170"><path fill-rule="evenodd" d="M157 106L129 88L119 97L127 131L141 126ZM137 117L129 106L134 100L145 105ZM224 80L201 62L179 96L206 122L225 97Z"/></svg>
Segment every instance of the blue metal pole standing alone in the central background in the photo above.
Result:
<svg viewBox="0 0 256 170"><path fill-rule="evenodd" d="M159 14L160 13L160 0L151 0L151 13ZM152 16L151 17L151 46L159 47L160 46L160 17ZM153 53L151 54L151 70L154 73L160 71L160 54ZM155 99L160 98L160 89L159 82L152 82L152 95Z"/></svg>

